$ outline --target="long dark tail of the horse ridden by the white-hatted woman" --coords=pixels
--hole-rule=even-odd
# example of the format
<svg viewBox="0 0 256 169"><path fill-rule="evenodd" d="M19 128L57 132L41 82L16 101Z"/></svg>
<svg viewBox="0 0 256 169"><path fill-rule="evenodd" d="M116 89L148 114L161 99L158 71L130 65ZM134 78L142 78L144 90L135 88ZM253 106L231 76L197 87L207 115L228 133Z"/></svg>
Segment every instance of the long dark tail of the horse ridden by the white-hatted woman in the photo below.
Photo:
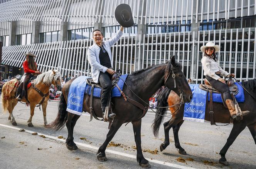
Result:
<svg viewBox="0 0 256 169"><path fill-rule="evenodd" d="M170 93L170 89L164 88L157 97L157 106L158 107L166 107L168 106L168 96ZM157 108L155 119L152 124L152 129L155 137L158 137L158 132L160 128L160 124L163 122L163 116L167 113L167 108Z"/></svg>

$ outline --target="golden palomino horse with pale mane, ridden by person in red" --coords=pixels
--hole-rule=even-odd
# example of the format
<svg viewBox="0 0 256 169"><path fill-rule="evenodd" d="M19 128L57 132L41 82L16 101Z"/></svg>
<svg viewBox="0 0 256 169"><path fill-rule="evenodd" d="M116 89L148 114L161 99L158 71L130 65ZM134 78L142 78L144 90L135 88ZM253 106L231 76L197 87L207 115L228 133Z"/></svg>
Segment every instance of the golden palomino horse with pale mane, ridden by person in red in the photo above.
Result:
<svg viewBox="0 0 256 169"><path fill-rule="evenodd" d="M37 78L34 80L33 85L35 86L35 88L37 88L42 93L42 95L44 95L49 92L50 86L52 84L54 86L56 86L57 88L61 89L62 88L61 79L62 79L61 74L59 72L49 70L45 73L38 75ZM15 97L16 87L14 87L12 89L12 91L9 94L8 99L5 99L4 96L5 96L7 83L5 83L5 85L3 85L3 88L2 88L3 112L6 112L8 110L8 112L10 114L8 120L10 120L10 122L12 123L13 126L16 126L17 123L12 114L13 108L18 103L18 101L16 100L16 97ZM30 86L30 88L27 89L27 98L30 103L30 118L27 121L29 127L33 127L32 117L34 116L35 106L37 104L41 103L41 101L43 99L43 97L39 94L38 91L35 90L35 88L33 86ZM49 100L49 93L47 94L47 96L45 96L44 102L42 103L43 114L44 114L44 125L47 125L46 107L47 107L48 100ZM22 101L26 102L25 97L22 98Z"/></svg>

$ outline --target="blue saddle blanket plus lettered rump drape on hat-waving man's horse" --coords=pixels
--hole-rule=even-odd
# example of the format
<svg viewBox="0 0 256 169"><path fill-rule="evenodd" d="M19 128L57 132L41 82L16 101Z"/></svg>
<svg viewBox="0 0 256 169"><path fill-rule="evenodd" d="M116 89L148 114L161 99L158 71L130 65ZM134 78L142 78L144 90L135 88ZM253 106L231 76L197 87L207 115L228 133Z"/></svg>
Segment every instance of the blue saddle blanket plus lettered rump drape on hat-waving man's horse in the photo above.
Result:
<svg viewBox="0 0 256 169"><path fill-rule="evenodd" d="M127 78L128 74L121 75L119 78L117 85L120 89L123 89L123 85ZM74 81L72 81L69 87L69 95L67 97L67 111L73 114L82 115L83 113L83 100L84 94L91 94L91 86L86 83L86 79L91 78L89 76L79 76ZM94 87L93 89L93 96L100 98L101 88ZM113 97L120 97L121 93L118 88L115 86L111 91L111 96Z"/></svg>

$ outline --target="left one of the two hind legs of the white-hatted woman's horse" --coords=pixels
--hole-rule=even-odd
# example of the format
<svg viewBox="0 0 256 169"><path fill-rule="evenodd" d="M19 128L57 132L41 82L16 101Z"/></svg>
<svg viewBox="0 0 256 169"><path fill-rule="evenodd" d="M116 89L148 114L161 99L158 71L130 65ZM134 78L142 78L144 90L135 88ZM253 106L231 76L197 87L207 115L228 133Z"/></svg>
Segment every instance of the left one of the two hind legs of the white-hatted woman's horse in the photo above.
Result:
<svg viewBox="0 0 256 169"><path fill-rule="evenodd" d="M165 130L165 141L160 145L160 151L163 151L170 144L169 131L176 124L176 118L171 118L169 121L163 123L163 127Z"/></svg>

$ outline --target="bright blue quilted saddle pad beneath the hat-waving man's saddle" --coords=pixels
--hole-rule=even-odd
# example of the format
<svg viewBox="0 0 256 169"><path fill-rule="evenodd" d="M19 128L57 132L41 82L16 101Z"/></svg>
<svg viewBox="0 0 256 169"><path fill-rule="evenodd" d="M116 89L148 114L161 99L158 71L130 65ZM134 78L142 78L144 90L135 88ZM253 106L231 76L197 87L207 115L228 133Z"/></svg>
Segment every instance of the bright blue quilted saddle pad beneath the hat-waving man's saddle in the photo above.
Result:
<svg viewBox="0 0 256 169"><path fill-rule="evenodd" d="M119 80L117 82L117 85L120 87L121 90L123 90L123 85L125 83L125 80L126 80L127 76L128 76L128 74L121 75L122 79L119 78ZM91 95L91 86L86 84L84 93ZM94 98L100 98L100 96L101 96L101 88L94 87L93 88L93 97ZM121 97L121 93L118 90L118 88L115 86L111 91L111 98L120 98L120 97Z"/></svg>

